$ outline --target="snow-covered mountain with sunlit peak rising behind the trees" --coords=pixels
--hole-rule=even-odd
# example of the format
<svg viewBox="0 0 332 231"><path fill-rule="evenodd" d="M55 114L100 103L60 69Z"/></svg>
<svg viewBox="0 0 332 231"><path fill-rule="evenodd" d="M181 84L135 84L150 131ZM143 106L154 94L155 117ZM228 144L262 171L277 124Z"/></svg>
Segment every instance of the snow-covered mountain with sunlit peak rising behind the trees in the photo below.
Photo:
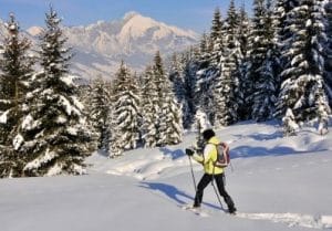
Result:
<svg viewBox="0 0 332 231"><path fill-rule="evenodd" d="M27 30L37 38L39 27ZM85 78L111 77L121 60L135 71L142 71L157 50L167 55L197 42L198 34L129 12L121 20L98 21L90 25L64 27L73 48L73 70Z"/></svg>

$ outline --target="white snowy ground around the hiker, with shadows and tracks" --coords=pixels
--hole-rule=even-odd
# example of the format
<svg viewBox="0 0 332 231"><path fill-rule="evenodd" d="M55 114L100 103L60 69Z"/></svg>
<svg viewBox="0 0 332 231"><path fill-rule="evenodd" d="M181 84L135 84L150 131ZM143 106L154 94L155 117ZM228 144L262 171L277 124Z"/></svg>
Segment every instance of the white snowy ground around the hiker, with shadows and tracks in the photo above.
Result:
<svg viewBox="0 0 332 231"><path fill-rule="evenodd" d="M331 129L331 128L330 128ZM332 133L283 138L273 123L218 132L231 146L227 189L239 210L219 209L209 186L200 214L183 144L137 149L118 159L94 154L83 177L0 180L1 231L332 230ZM194 165L196 181L203 171Z"/></svg>

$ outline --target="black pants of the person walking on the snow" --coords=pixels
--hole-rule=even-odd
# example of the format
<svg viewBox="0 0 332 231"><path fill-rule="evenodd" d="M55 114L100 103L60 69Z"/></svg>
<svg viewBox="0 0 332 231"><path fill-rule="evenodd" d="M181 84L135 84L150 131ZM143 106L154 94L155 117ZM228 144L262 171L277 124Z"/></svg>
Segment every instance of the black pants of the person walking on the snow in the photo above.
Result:
<svg viewBox="0 0 332 231"><path fill-rule="evenodd" d="M200 206L201 200L203 200L204 189L209 185L209 182L211 182L211 180L214 178L217 182L219 193L224 198L225 202L227 203L228 209L234 211L235 210L234 201L232 201L231 197L225 190L224 174L218 174L218 175L215 175L215 176L205 174L201 177L201 179L200 179L200 181L197 186L194 207L199 207Z"/></svg>

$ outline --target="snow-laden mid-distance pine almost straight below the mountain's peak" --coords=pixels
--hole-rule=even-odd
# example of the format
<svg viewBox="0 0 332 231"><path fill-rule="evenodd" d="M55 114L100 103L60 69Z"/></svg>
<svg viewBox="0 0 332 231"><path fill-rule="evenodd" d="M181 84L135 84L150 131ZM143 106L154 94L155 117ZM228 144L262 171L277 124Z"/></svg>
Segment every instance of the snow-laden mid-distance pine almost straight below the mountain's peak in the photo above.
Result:
<svg viewBox="0 0 332 231"><path fill-rule="evenodd" d="M137 81L122 62L113 82L110 157L136 148L139 140L141 93Z"/></svg>

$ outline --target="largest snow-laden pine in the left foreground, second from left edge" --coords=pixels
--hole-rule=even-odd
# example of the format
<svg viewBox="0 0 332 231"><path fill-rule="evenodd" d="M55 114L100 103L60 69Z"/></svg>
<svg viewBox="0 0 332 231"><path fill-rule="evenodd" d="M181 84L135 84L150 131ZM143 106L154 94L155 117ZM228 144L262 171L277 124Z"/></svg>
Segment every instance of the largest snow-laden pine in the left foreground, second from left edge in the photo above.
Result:
<svg viewBox="0 0 332 231"><path fill-rule="evenodd" d="M45 30L40 36L41 72L33 76L34 90L20 125L27 156L24 176L54 176L85 172L90 155L90 133L85 128L83 105L77 99L75 77L70 75L70 49L61 30L61 20L50 7Z"/></svg>

